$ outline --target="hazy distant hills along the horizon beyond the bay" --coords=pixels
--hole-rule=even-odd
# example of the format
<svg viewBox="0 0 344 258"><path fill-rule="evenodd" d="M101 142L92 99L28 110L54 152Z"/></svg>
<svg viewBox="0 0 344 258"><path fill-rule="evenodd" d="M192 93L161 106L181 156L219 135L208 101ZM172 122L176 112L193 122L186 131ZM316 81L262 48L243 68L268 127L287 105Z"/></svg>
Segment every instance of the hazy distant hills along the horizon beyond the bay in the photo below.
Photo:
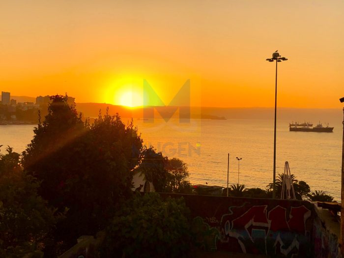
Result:
<svg viewBox="0 0 344 258"><path fill-rule="evenodd" d="M28 96L11 96L17 102L35 102L36 98ZM125 118L143 118L143 109L129 109L123 106L116 106L105 103L77 103L77 110L85 117L97 117L99 110L105 114L109 107L109 114L118 113ZM175 107L156 107L155 113L171 116L174 112L179 112ZM185 114L184 114L185 115ZM321 122L342 121L343 111L337 109L296 109L296 108L278 108L278 119L304 122L305 120L317 123ZM157 115L156 117L159 117ZM274 108L212 108L212 107L191 107L192 118L203 119L273 119Z"/></svg>

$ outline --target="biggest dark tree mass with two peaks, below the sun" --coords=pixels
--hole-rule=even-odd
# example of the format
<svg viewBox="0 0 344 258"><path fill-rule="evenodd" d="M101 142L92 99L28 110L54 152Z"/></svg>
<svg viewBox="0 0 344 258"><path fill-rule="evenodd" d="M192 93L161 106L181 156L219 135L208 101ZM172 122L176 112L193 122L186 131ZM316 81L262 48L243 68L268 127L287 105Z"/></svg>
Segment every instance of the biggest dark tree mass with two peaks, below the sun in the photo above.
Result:
<svg viewBox="0 0 344 258"><path fill-rule="evenodd" d="M118 114L107 110L94 124L84 124L67 96L51 99L22 162L42 181L42 197L58 211L69 209L55 232L55 242L69 248L80 235L105 227L130 197L131 170L139 163L142 140L133 123L126 126Z"/></svg>

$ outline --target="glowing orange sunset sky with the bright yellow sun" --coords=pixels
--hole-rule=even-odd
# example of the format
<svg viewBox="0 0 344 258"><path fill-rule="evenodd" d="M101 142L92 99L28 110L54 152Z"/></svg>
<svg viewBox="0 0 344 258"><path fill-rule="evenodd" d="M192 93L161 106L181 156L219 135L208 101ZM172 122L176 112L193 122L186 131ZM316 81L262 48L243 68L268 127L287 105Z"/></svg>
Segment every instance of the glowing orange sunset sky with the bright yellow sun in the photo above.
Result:
<svg viewBox="0 0 344 258"><path fill-rule="evenodd" d="M0 91L137 105L341 108L342 0L28 0L0 3ZM131 99L130 99L131 98ZM129 105L129 104L128 104Z"/></svg>

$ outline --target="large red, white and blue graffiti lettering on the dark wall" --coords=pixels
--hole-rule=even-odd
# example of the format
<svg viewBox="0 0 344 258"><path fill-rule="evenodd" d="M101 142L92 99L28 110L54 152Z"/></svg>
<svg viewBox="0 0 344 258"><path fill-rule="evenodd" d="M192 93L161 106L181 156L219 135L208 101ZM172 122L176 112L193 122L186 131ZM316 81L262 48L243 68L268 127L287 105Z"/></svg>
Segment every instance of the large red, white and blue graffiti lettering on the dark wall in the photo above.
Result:
<svg viewBox="0 0 344 258"><path fill-rule="evenodd" d="M222 216L225 236L229 242L238 242L243 253L283 255L299 254L300 242L309 242L310 232L306 220L311 210L304 205L287 208L277 205L268 211L268 205L249 208L229 207L229 214ZM238 250L237 250L238 251ZM272 252L271 252L272 251Z"/></svg>

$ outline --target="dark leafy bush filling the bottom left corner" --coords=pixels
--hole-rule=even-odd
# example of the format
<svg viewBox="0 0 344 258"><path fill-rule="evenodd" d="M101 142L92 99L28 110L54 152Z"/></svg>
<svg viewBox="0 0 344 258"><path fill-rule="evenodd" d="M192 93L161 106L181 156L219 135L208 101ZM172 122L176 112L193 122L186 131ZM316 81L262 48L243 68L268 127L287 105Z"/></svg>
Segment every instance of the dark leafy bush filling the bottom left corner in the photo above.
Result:
<svg viewBox="0 0 344 258"><path fill-rule="evenodd" d="M20 155L6 150L0 154L0 257L40 257L54 211L37 195L39 182L23 172Z"/></svg>

